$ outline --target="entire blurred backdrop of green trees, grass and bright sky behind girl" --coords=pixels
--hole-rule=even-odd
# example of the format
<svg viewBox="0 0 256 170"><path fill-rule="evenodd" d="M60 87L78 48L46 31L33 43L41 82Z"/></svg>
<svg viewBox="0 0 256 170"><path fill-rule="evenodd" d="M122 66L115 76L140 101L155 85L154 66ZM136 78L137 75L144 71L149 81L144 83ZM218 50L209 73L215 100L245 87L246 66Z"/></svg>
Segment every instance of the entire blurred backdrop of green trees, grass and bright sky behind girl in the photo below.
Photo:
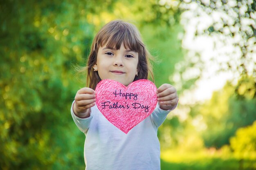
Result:
<svg viewBox="0 0 256 170"><path fill-rule="evenodd" d="M84 170L70 106L94 35L130 21L179 106L162 170L256 170L255 0L1 0L0 169Z"/></svg>

